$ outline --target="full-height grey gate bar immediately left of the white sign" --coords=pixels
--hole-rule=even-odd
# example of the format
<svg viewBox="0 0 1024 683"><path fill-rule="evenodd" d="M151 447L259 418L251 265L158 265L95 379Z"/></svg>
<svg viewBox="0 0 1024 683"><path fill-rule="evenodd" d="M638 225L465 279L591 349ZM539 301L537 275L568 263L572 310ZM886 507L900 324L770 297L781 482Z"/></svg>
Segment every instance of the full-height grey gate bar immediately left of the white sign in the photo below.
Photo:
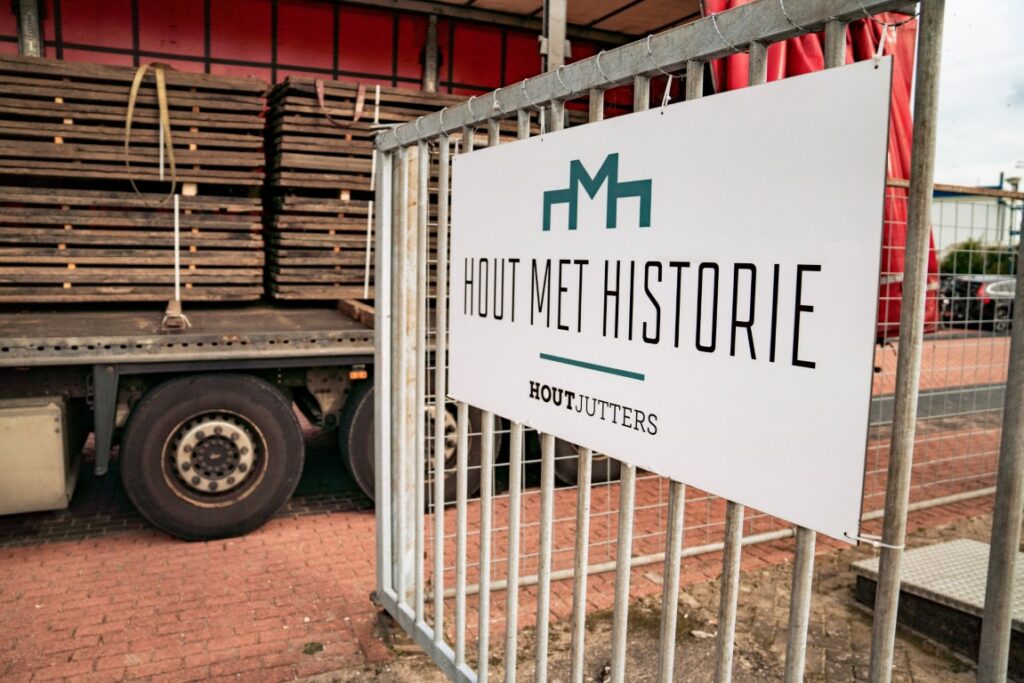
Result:
<svg viewBox="0 0 1024 683"><path fill-rule="evenodd" d="M450 140L437 136L437 301L434 323L434 643L444 640L444 463L447 453L447 214Z"/></svg>

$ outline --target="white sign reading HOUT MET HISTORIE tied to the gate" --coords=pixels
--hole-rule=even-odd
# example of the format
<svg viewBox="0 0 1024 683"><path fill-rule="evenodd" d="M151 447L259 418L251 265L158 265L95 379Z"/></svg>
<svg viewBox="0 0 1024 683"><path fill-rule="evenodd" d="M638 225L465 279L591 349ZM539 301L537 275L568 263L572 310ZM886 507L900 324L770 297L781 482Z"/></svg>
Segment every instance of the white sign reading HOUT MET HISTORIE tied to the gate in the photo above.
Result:
<svg viewBox="0 0 1024 683"><path fill-rule="evenodd" d="M859 528L891 62L457 157L454 397Z"/></svg>

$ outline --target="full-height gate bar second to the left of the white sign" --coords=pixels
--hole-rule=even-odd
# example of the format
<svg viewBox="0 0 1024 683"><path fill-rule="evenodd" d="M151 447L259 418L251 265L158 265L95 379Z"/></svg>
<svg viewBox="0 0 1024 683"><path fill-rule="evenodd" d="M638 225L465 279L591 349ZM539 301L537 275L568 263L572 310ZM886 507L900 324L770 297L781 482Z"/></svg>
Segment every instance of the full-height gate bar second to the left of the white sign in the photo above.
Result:
<svg viewBox="0 0 1024 683"><path fill-rule="evenodd" d="M416 187L416 621L425 623L424 599L424 515L426 514L427 463L427 217L430 211L430 147L426 140L418 145L419 169Z"/></svg>

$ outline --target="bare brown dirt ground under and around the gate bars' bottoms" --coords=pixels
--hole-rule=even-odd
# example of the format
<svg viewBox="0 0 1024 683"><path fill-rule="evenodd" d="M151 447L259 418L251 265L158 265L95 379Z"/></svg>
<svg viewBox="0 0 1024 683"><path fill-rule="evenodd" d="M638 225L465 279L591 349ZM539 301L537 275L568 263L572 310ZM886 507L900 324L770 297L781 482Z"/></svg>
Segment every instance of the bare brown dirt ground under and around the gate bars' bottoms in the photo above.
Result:
<svg viewBox="0 0 1024 683"><path fill-rule="evenodd" d="M990 515L961 519L945 526L922 529L913 535L908 545L924 546L958 538L987 542L990 526ZM850 564L874 552L868 547L852 548L833 550L816 558L805 680L841 682L867 679L871 617L870 611L854 600L854 574ZM743 572L733 669L733 680L737 683L782 678L791 580L791 563ZM714 680L718 596L717 580L691 585L682 591L677 627L677 680ZM655 680L659 620L659 599L646 597L631 605L628 680ZM444 680L400 629L388 625L386 617L382 617L380 630L386 634L395 652L390 661L306 680L309 683L349 683L369 677L386 682ZM588 681L605 680L610 664L610 611L588 617ZM552 624L550 680L568 678L569 638L568 622ZM520 633L519 643L516 678L532 680L535 650L531 629ZM503 643L499 642L492 650L490 678L495 680L504 676L502 648ZM966 683L974 678L972 661L933 641L899 629L894 681Z"/></svg>

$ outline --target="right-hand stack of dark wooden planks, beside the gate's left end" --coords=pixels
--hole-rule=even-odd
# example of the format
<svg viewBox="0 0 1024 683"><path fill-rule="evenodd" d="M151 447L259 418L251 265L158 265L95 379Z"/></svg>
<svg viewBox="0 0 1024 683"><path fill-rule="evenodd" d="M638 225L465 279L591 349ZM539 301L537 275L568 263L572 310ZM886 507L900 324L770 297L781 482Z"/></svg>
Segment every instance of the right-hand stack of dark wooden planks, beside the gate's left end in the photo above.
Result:
<svg viewBox="0 0 1024 683"><path fill-rule="evenodd" d="M312 79L289 77L269 95L267 287L280 299L373 296L364 286L374 135L463 101L337 81L323 87L323 108Z"/></svg>

